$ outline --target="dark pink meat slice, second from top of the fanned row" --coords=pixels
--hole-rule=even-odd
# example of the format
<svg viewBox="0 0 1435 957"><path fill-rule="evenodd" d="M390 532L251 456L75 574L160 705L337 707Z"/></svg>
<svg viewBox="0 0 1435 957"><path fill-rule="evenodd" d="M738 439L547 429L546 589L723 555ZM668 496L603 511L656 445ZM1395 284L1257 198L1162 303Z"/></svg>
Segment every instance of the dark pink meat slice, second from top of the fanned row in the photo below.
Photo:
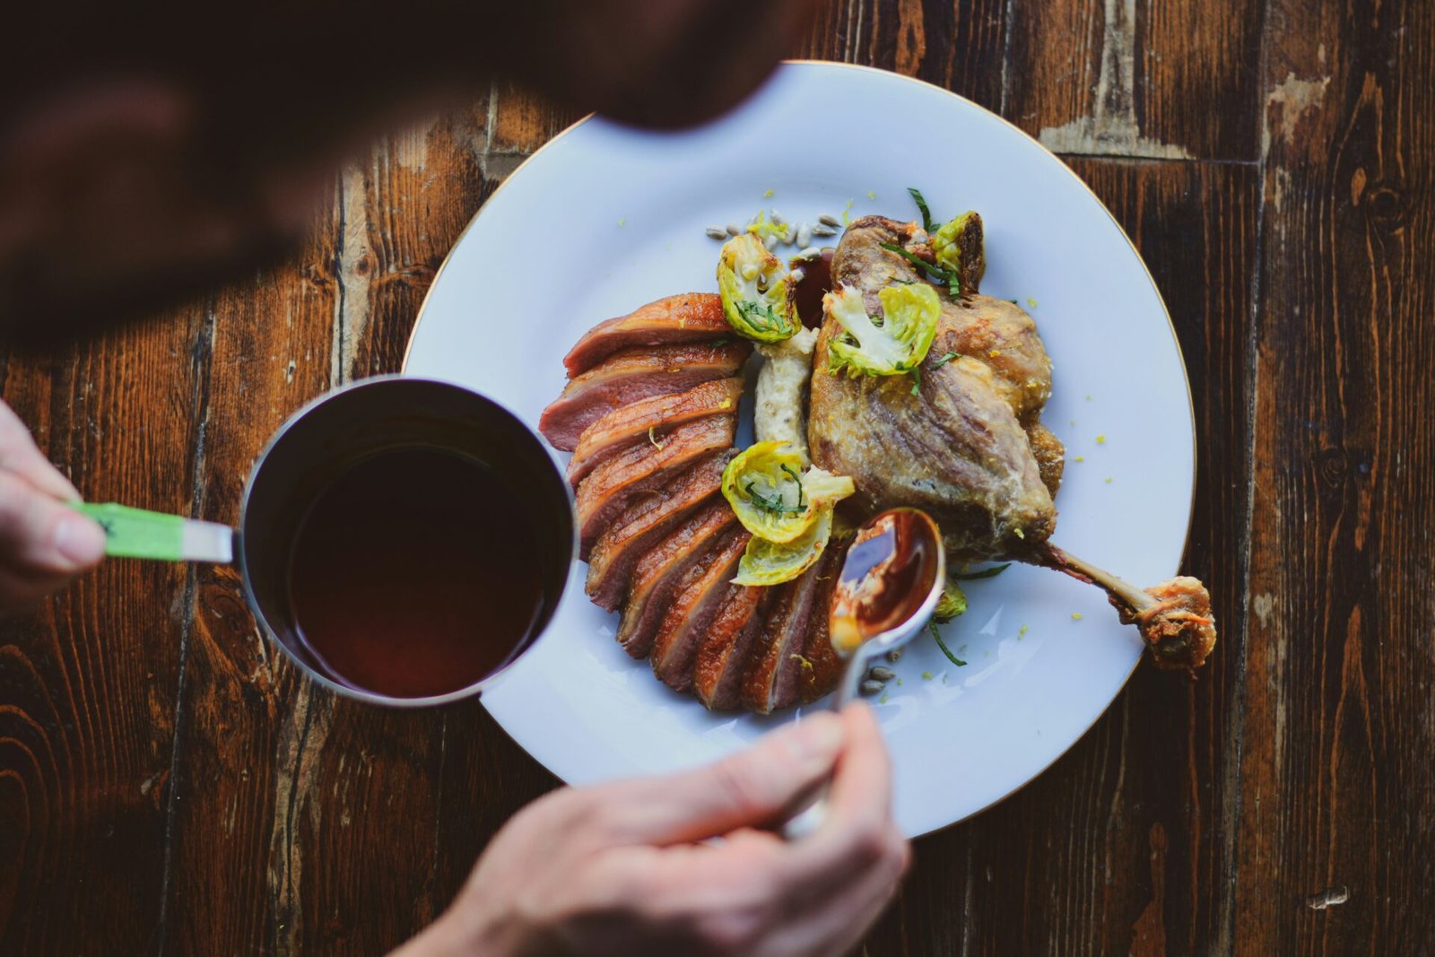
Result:
<svg viewBox="0 0 1435 957"><path fill-rule="evenodd" d="M752 344L745 339L722 346L687 343L624 349L568 382L542 410L538 430L555 449L573 452L583 430L613 409L735 376L751 352Z"/></svg>

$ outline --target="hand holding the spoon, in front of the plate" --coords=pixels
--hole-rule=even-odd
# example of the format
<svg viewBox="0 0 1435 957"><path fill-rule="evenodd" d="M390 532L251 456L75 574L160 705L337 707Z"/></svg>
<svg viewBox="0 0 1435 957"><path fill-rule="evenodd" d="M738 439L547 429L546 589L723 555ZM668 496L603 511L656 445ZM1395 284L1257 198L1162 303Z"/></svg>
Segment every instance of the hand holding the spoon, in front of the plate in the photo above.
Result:
<svg viewBox="0 0 1435 957"><path fill-rule="evenodd" d="M759 829L829 775L815 832L785 841ZM707 838L719 841L695 844ZM881 914L908 855L881 733L858 703L707 768L535 801L396 957L842 954Z"/></svg>

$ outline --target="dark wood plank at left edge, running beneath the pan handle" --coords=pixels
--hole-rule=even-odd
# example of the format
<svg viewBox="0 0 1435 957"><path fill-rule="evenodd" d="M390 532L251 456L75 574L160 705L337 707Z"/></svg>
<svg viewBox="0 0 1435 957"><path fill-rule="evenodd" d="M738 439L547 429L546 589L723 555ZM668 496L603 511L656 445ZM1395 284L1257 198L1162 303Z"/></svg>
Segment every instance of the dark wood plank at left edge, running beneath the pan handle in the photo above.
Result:
<svg viewBox="0 0 1435 957"><path fill-rule="evenodd" d="M158 319L10 356L4 400L86 498L189 514L208 324ZM189 583L110 561L0 623L0 953L156 938Z"/></svg>

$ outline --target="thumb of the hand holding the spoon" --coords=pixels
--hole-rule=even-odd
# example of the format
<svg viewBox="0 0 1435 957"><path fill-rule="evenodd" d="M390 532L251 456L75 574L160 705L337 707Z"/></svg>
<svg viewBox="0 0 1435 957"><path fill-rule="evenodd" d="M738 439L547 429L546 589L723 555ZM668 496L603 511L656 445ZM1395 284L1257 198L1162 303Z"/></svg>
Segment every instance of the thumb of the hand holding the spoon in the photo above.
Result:
<svg viewBox="0 0 1435 957"><path fill-rule="evenodd" d="M601 796L616 818L614 838L687 844L772 824L832 773L842 742L842 720L818 712L715 765L608 785Z"/></svg>

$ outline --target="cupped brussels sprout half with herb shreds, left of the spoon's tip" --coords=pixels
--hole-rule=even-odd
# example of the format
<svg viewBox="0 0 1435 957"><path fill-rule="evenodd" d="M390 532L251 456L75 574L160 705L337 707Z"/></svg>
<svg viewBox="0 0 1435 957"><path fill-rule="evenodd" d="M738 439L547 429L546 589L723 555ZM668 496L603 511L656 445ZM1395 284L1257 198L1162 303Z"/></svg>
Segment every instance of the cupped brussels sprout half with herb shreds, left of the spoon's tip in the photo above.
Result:
<svg viewBox="0 0 1435 957"><path fill-rule="evenodd" d="M801 538L822 508L855 491L852 479L824 469L802 473L802 458L786 442L758 442L722 473L722 494L742 527L771 544Z"/></svg>

